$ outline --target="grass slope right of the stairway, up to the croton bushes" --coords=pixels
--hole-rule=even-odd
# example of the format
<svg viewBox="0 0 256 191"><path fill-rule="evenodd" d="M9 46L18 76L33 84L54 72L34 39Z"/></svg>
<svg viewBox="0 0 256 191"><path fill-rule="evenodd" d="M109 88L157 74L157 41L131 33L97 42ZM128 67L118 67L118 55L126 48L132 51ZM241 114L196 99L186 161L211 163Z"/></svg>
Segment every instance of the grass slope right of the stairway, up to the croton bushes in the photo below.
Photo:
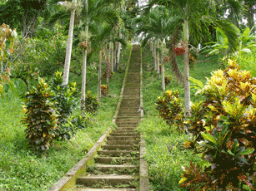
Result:
<svg viewBox="0 0 256 191"><path fill-rule="evenodd" d="M190 150L183 149L183 142L188 140L188 135L179 133L173 126L167 125L158 117L155 103L158 96L162 94L161 80L157 79L156 71L150 70L153 67L153 57L149 47L143 48L143 108L145 115L143 121L138 126L138 130L143 132L146 140L148 161L148 174L150 190L169 191L186 190L179 189L178 182L181 179L182 166L188 166L190 160L195 163L201 161L198 155L193 155ZM182 56L178 56L178 64L183 71ZM148 70L149 69L149 70ZM190 70L190 76L205 83L212 71L218 70L217 59L206 60L200 56L198 63ZM183 97L183 86L179 86L171 71L170 64L165 65L166 76L172 76L170 85L166 90L178 90ZM200 100L194 96L196 90L191 90L191 100Z"/></svg>

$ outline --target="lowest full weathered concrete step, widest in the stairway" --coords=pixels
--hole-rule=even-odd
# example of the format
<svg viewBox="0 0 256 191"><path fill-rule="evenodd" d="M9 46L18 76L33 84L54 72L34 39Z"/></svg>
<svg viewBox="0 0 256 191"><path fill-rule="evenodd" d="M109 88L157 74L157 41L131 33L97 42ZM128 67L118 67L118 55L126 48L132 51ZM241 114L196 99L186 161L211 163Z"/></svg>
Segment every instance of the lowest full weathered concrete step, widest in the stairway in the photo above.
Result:
<svg viewBox="0 0 256 191"><path fill-rule="evenodd" d="M89 175L77 179L77 184L88 187L103 187L103 185L118 186L128 184L126 188L134 188L131 184L136 178L129 175Z"/></svg>

